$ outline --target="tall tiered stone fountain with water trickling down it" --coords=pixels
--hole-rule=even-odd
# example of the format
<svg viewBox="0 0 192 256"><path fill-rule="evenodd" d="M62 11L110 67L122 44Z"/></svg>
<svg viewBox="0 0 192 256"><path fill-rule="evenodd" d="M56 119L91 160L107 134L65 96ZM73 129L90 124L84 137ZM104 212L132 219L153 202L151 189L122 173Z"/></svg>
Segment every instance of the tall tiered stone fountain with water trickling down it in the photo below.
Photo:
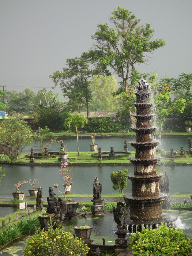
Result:
<svg viewBox="0 0 192 256"><path fill-rule="evenodd" d="M140 79L136 86L136 142L131 142L135 148L135 158L130 158L134 165L134 174L127 177L132 181L132 195L125 195L126 206L130 210L129 232L135 232L150 225L156 228L162 221L162 201L165 194L159 193L159 180L163 174L157 174L156 164L160 160L155 156L158 141L153 140L151 114L153 103L150 103L149 84ZM171 224L169 225L171 226Z"/></svg>

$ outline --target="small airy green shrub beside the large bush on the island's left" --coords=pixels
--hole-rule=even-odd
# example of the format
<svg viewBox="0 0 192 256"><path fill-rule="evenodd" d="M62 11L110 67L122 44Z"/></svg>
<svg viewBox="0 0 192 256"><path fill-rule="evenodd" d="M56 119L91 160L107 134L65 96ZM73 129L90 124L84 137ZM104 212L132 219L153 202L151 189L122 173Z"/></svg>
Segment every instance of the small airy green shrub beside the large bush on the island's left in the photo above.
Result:
<svg viewBox="0 0 192 256"><path fill-rule="evenodd" d="M50 147L57 142L57 135L53 132L50 132L50 129L45 126L45 129L41 128L41 132L35 133L35 139L41 143L41 151L44 152L45 148Z"/></svg>

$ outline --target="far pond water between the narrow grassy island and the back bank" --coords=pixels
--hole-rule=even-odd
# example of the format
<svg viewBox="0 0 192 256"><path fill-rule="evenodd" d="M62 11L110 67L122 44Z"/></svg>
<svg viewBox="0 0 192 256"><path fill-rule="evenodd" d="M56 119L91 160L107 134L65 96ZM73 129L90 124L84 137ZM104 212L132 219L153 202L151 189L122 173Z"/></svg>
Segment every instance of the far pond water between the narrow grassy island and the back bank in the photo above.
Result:
<svg viewBox="0 0 192 256"><path fill-rule="evenodd" d="M192 138L192 135L188 136L169 136L169 137L162 137L159 141L158 148L164 149L165 151L170 151L173 147L175 151L179 151L181 149L181 146L184 147L184 149L188 150L188 138ZM63 139L60 137L58 139ZM127 138L97 138L95 140L95 143L97 143L97 149L98 147L102 148L102 151L110 151L110 147L114 147L115 151L124 151L124 140L127 139L128 142L135 141L135 136L129 136ZM91 138L79 138L79 151L90 151L91 144ZM64 145L67 145L67 151L77 151L77 141L76 138L67 138L64 139ZM33 143L33 149L34 153L40 152L39 143L34 142ZM23 150L23 154L30 154L31 146L27 146ZM48 148L48 151L59 151L60 150L60 142L57 142L53 146L50 146ZM135 151L135 148L133 148L131 145L128 144L128 150L129 151Z"/></svg>

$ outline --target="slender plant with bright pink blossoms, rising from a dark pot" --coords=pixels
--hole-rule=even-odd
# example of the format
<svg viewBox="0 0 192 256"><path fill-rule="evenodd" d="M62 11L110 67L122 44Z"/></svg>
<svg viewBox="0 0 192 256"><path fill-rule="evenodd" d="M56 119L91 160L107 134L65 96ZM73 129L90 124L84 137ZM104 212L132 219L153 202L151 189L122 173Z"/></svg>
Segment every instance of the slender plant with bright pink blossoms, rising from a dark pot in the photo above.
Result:
<svg viewBox="0 0 192 256"><path fill-rule="evenodd" d="M63 187L64 187L64 192L61 192L59 191L59 188L58 188L58 184L54 184L54 187L62 194L71 194L71 185L73 185L73 182L72 181L69 181L71 180L71 176L70 176L70 172L72 171L72 167L67 167L69 164L68 162L65 162L65 163L62 163L61 165L61 169L60 169L60 175L63 176L63 181L64 181L64 184L63 184Z"/></svg>

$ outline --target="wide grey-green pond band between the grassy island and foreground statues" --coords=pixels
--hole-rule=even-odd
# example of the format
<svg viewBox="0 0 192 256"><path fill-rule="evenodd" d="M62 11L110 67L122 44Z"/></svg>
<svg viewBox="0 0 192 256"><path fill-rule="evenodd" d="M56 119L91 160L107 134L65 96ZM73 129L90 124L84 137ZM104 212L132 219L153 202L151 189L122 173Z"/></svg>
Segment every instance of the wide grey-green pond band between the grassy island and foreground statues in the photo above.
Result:
<svg viewBox="0 0 192 256"><path fill-rule="evenodd" d="M37 187L42 187L43 195L48 196L49 186L53 187L55 183L59 184L60 191L63 190L62 178L59 175L59 166L19 166L19 165L3 165L5 167L6 176L1 180L0 197L12 197L14 192L14 184L25 179L29 180L38 178ZM94 177L97 176L102 183L102 194L118 193L113 189L113 184L110 179L112 171L128 169L129 174L133 173L133 165L114 165L114 166L74 166L71 172L73 184L72 193L91 194L93 193ZM161 165L159 165L161 169ZM167 172L170 180L169 193L192 193L191 181L192 170L191 166L165 166L164 172ZM27 189L31 188L29 184L24 184L21 191L25 191L29 195ZM56 195L61 195L55 188ZM132 193L132 183L127 181L127 187L124 193Z"/></svg>

